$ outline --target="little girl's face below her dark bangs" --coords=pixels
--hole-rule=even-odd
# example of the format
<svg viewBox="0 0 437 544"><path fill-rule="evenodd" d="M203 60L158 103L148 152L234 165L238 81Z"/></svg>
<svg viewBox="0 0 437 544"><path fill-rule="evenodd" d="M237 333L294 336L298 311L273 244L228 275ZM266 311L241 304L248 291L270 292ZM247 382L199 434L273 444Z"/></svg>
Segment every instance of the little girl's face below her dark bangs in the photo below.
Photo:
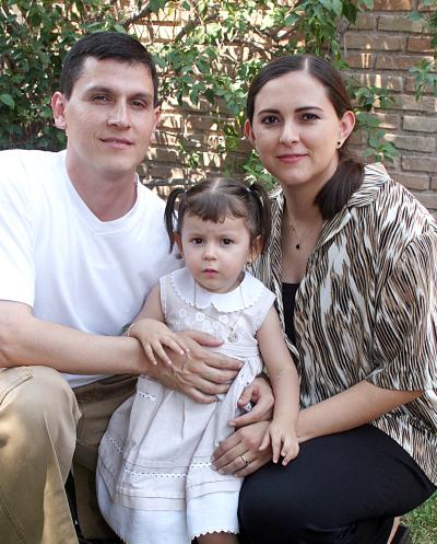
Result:
<svg viewBox="0 0 437 544"><path fill-rule="evenodd" d="M196 281L211 292L229 292L252 255L250 234L243 218L223 222L203 221L187 212L181 236L175 234L179 252Z"/></svg>

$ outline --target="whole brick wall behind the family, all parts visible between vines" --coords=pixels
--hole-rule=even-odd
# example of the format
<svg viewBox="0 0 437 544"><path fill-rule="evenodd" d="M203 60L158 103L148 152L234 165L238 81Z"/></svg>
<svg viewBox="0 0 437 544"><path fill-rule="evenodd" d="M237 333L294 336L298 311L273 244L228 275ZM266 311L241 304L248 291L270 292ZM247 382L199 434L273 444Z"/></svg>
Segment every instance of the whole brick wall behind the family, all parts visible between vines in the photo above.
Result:
<svg viewBox="0 0 437 544"><path fill-rule="evenodd" d="M409 19L418 1L376 0L374 9L359 14L356 25L347 30L343 45L352 76L364 84L389 89L394 99L389 109L377 109L387 139L399 150L399 157L386 166L426 207L437 211L437 97L428 89L416 101L409 73L417 60L433 58L429 28ZM172 27L162 27L160 37L172 38ZM181 164L177 150L180 135L188 138L199 153L197 167ZM206 102L192 109L181 109L170 101L163 109L156 144L149 152L141 174L147 178L192 180L216 174L223 169L224 157L214 153L212 148L220 139ZM354 144L365 148L366 137L356 135ZM241 159L248 149L241 139L234 159Z"/></svg>

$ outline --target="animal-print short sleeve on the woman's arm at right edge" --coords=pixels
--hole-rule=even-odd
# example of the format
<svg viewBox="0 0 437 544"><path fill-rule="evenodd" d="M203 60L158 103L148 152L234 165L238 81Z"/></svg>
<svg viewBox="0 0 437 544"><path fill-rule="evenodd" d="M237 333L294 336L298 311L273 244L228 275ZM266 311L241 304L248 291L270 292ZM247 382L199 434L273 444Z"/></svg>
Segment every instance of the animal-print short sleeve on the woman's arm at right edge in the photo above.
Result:
<svg viewBox="0 0 437 544"><path fill-rule="evenodd" d="M397 390L437 389L437 239L416 236L383 281L375 320L374 358L367 378Z"/></svg>

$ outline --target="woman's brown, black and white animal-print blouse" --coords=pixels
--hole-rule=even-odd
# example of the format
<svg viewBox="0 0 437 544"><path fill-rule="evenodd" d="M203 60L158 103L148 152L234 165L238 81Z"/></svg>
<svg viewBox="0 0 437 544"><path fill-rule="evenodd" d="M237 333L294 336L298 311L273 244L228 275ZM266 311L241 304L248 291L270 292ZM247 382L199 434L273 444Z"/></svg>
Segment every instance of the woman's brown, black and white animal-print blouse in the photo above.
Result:
<svg viewBox="0 0 437 544"><path fill-rule="evenodd" d="M284 327L281 221L253 273L275 294ZM391 390L424 390L371 421L400 443L437 484L437 224L392 181L368 165L359 189L324 223L296 293L295 356L300 403L310 406L362 380Z"/></svg>

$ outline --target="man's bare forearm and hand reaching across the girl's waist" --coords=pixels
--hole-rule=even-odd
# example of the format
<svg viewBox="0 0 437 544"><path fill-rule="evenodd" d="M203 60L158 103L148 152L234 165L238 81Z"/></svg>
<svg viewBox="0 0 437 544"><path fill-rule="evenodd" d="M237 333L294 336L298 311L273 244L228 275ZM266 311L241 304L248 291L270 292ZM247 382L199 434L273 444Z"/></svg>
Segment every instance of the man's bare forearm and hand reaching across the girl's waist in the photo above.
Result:
<svg viewBox="0 0 437 544"><path fill-rule="evenodd" d="M205 346L218 345L197 335ZM212 354L190 338L190 354L172 352L174 364L154 366L135 338L98 336L36 319L19 302L0 301L0 367L47 366L76 374L144 372L198 402L225 393L240 363Z"/></svg>

